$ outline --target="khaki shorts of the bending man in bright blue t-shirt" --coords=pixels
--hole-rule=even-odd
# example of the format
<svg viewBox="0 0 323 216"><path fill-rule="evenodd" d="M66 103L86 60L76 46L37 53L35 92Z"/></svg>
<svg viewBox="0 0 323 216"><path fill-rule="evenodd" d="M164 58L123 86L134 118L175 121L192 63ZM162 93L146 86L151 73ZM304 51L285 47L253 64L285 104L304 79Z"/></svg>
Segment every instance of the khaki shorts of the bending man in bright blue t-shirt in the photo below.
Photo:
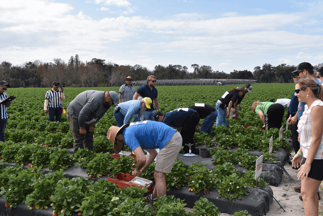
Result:
<svg viewBox="0 0 323 216"><path fill-rule="evenodd" d="M155 170L170 173L181 148L182 136L179 132L175 132L170 142L159 150L156 158Z"/></svg>

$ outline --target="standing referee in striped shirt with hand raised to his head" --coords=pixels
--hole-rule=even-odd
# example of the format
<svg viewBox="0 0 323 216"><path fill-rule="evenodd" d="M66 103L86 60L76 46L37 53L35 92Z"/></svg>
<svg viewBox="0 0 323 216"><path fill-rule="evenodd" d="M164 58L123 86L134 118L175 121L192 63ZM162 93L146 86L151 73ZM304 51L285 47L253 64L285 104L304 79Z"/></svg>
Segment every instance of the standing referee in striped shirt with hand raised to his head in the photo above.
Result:
<svg viewBox="0 0 323 216"><path fill-rule="evenodd" d="M55 117L56 121L61 122L65 96L63 93L64 88L61 86L59 90L59 85L60 83L57 81L52 82L51 90L48 90L45 95L44 112L49 114L48 121L54 121Z"/></svg>

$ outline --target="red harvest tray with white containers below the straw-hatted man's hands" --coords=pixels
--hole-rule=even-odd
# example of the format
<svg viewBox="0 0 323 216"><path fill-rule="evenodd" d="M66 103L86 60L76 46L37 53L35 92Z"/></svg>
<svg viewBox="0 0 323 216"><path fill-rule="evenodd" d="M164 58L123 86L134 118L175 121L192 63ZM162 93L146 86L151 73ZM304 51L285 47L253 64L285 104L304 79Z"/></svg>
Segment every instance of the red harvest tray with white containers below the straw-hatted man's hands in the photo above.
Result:
<svg viewBox="0 0 323 216"><path fill-rule="evenodd" d="M131 183L131 181L135 179L134 176L131 176L130 174L124 174L123 172L119 172L118 175L115 178L107 178L108 182L112 182L112 183L117 183L118 184L118 188L122 188L124 189L125 187L138 187L138 185L140 186L140 184L134 184ZM142 179L142 178L140 178ZM145 181L149 181L146 179L143 179ZM150 183L152 183L151 181L149 181ZM147 188L148 191L152 191L152 184L147 184L146 186L140 186L139 188Z"/></svg>

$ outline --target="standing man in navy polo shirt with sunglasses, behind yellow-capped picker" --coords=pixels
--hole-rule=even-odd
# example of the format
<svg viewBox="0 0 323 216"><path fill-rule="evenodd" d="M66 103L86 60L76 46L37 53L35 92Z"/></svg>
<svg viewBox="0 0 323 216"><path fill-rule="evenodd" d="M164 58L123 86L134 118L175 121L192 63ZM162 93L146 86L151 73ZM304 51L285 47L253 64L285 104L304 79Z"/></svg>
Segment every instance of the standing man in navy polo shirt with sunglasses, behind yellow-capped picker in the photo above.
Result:
<svg viewBox="0 0 323 216"><path fill-rule="evenodd" d="M133 100L137 100L138 96L141 96L143 98L148 97L153 101L156 110L159 111L159 103L158 103L158 92L155 88L156 85L156 77L153 75L150 75L147 77L147 84L142 85L137 89L137 92L133 96ZM153 120L153 113L155 112L155 108L153 106L150 107L150 109L147 109L143 115L143 120ZM139 118L135 118L133 121L138 121Z"/></svg>

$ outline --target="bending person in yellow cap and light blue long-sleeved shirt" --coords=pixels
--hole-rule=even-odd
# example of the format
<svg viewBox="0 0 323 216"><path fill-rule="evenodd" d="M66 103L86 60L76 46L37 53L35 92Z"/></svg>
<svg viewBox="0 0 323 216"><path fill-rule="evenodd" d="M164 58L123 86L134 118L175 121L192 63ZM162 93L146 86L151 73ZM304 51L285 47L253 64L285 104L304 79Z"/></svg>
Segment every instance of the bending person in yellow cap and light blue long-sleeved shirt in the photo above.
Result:
<svg viewBox="0 0 323 216"><path fill-rule="evenodd" d="M115 108L113 115L116 118L118 127L126 123L130 123L133 115L140 117L145 113L145 110L150 108L151 100L150 98L138 98L138 100L131 100L124 103L120 103L118 107Z"/></svg>

